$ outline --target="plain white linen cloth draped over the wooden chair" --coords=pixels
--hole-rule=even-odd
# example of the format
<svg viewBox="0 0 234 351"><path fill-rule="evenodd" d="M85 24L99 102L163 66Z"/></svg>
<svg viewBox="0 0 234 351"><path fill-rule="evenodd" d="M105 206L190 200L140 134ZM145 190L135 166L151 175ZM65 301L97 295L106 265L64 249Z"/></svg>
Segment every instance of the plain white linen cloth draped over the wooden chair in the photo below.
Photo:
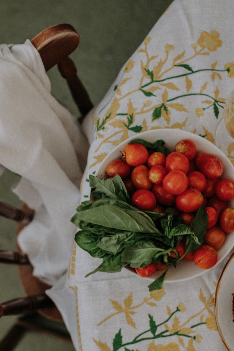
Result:
<svg viewBox="0 0 234 351"><path fill-rule="evenodd" d="M22 176L14 191L35 210L18 237L20 247L35 276L54 284L69 264L75 233L70 218L80 201L88 142L51 95L30 40L0 45L0 135L0 164Z"/></svg>

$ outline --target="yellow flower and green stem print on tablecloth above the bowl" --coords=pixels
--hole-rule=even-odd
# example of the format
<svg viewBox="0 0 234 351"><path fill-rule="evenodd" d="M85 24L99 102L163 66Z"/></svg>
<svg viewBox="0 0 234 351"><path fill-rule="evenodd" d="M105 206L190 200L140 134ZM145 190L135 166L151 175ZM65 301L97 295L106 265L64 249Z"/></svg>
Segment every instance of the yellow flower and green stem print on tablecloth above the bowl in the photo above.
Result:
<svg viewBox="0 0 234 351"><path fill-rule="evenodd" d="M212 110L216 125L222 114L226 98L220 96L219 81L225 74L234 78L234 62L223 65L216 60L215 52L222 47L220 34L215 30L202 31L197 42L191 43L192 53L188 55L185 50L173 54L176 48L169 43L164 47L164 57L159 57L156 52L150 55L148 46L151 40L147 37L138 50L141 57L138 82L131 85L132 78L135 78L134 70L138 69L131 59L123 68L109 101L93 116L96 138L100 143L89 168L97 166L106 157L107 153L102 149L108 144L115 147L128 137L146 130L181 128L194 131L189 126L198 125L194 132L206 137L202 128L208 132L209 128L201 118L206 118L206 111ZM214 62L205 66L204 56L209 55L214 56ZM199 57L200 67L193 67L194 59ZM196 84L198 75L200 87ZM210 91L214 82L215 88ZM190 107L198 102L199 106L194 106L191 111Z"/></svg>

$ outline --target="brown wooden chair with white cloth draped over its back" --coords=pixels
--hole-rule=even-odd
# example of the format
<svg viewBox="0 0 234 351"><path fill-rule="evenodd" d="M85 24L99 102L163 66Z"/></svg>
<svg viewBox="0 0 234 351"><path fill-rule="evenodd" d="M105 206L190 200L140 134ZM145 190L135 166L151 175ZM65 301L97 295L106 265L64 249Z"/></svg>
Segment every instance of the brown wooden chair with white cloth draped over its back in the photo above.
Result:
<svg viewBox="0 0 234 351"><path fill-rule="evenodd" d="M80 111L79 121L81 122L92 109L93 104L76 74L74 62L68 57L79 45L78 33L69 24L58 24L45 29L36 35L31 42L38 50L46 71L58 65L59 72L66 79ZM19 209L0 202L0 215L17 221L19 233L33 219L34 211L26 204L23 204L22 208ZM25 297L0 305L0 317L10 314L20 315L12 329L0 341L0 350L13 350L20 338L30 329L71 342L65 326L62 324L62 317L58 309L45 294L45 290L50 286L32 275L33 268L27 255L20 251L20 247L17 247L17 252L1 250L0 263L18 265L20 281L25 292ZM52 325L48 325L48 321L52 321Z"/></svg>

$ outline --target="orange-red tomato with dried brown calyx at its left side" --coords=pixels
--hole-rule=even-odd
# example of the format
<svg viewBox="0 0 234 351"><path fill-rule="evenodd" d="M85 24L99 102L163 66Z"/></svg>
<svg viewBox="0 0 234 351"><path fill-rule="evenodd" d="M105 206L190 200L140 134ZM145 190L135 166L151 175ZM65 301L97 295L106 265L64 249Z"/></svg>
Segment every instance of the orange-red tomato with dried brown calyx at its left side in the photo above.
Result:
<svg viewBox="0 0 234 351"><path fill-rule="evenodd" d="M130 166L136 167L147 163L149 153L142 144L132 143L125 147L125 160Z"/></svg>

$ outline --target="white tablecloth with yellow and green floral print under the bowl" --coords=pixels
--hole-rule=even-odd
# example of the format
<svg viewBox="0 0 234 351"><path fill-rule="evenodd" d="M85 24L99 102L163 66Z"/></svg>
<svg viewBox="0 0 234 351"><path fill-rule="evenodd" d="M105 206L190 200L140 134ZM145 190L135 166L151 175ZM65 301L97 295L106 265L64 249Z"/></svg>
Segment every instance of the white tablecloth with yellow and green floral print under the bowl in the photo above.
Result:
<svg viewBox="0 0 234 351"><path fill-rule="evenodd" d="M233 139L222 118L234 88L233 18L233 0L172 2L84 121L91 147L81 201L89 198L88 176L103 158L126 138L153 128L201 134L233 161ZM154 292L148 291L148 280L126 269L84 278L99 264L74 244L67 274L47 291L76 350L226 349L214 317L224 261L200 277L165 282ZM227 318L232 323L231 315Z"/></svg>

